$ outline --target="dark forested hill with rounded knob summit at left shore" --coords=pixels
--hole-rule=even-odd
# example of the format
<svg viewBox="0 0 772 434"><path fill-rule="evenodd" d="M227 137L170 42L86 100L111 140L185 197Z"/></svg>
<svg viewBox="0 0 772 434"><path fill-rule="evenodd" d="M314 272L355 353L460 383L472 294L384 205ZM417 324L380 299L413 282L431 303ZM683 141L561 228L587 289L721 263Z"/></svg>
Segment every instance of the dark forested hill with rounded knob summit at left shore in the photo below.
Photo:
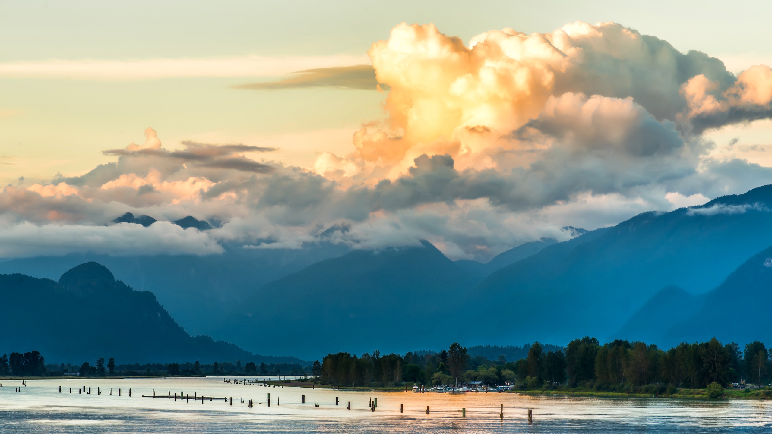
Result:
<svg viewBox="0 0 772 434"><path fill-rule="evenodd" d="M98 263L83 263L59 282L0 275L4 351L38 350L48 361L269 361L208 336L191 337L147 291L135 291Z"/></svg>

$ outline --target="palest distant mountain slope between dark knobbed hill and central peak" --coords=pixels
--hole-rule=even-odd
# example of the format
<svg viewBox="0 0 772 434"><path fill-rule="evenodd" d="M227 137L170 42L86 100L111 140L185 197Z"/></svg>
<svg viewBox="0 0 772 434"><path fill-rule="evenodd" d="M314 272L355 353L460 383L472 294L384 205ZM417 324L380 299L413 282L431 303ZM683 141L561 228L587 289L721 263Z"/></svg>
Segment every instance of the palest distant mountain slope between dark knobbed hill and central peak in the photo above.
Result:
<svg viewBox="0 0 772 434"><path fill-rule="evenodd" d="M155 294L191 334L216 332L229 321L232 306L280 277L349 251L330 242L310 243L301 249L245 249L223 246L222 255L39 256L0 262L0 273L22 273L58 280L74 266L94 261L112 270L118 280ZM234 327L237 327L234 325ZM220 336L215 336L222 339Z"/></svg>

